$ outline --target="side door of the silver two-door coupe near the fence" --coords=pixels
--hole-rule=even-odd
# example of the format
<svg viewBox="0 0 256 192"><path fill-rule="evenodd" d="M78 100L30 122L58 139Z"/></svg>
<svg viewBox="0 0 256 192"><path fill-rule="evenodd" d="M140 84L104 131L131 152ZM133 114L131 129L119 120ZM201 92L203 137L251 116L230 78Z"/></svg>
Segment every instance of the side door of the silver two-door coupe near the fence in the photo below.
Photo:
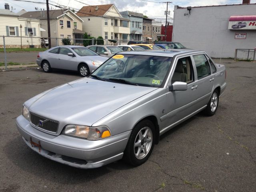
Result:
<svg viewBox="0 0 256 192"><path fill-rule="evenodd" d="M68 53L74 54L74 52L72 52L69 48L60 47L58 66L56 68L66 70L77 70L76 56L68 56Z"/></svg>

